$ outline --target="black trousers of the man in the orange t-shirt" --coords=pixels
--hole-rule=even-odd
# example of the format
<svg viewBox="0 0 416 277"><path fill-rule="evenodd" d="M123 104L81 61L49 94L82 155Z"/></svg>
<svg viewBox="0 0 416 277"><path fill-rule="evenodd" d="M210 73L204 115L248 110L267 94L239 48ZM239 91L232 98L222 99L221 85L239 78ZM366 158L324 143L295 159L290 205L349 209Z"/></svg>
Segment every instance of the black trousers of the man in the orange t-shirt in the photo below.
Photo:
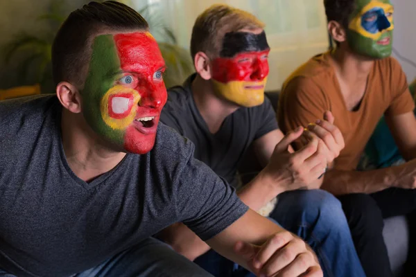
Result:
<svg viewBox="0 0 416 277"><path fill-rule="evenodd" d="M415 276L416 190L389 188L379 193L356 193L339 197L347 216L358 256L368 277L391 277L390 260L383 238L383 219L407 215L410 249L406 276Z"/></svg>

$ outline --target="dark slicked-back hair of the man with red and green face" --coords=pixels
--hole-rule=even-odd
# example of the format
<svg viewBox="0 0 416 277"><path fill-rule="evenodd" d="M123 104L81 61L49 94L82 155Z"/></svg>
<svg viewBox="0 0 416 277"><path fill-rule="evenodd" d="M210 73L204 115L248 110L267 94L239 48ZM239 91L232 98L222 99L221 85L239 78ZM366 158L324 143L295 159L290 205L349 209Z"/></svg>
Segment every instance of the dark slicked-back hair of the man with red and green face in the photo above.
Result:
<svg viewBox="0 0 416 277"><path fill-rule="evenodd" d="M116 30L148 30L148 23L138 12L116 1L93 1L71 12L52 45L55 85L66 81L82 88L87 78L95 37Z"/></svg>

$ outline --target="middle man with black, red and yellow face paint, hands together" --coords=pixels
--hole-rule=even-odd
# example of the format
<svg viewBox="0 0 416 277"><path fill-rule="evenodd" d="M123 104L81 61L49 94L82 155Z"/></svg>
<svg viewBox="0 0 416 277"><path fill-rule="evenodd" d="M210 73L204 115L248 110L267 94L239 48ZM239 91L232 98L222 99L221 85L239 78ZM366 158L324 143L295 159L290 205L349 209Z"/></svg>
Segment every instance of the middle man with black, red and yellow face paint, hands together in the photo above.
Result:
<svg viewBox="0 0 416 277"><path fill-rule="evenodd" d="M256 17L225 5L211 6L193 26L191 53L197 73L183 87L168 90L161 121L190 139L194 157L236 188L237 168L252 145L264 169L239 189L243 202L302 234L318 253L324 276L364 276L338 200L323 190L307 190L319 187L318 177L342 148L343 138L322 120L319 132L304 133L313 138L304 150L288 151L303 128L285 137L277 127L275 111L264 97L269 51ZM339 144L327 146L320 136L331 136ZM161 237L214 276L248 274L209 250L184 224L171 226Z"/></svg>

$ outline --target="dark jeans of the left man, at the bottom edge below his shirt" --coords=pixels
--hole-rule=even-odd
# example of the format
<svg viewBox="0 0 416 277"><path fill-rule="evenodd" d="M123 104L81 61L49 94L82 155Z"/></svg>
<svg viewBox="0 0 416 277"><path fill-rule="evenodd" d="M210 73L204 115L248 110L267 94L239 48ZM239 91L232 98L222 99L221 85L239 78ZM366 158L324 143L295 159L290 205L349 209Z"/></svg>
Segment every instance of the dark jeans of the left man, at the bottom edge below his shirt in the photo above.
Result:
<svg viewBox="0 0 416 277"><path fill-rule="evenodd" d="M207 271L180 256L167 244L148 238L92 269L71 277L209 277ZM0 277L16 277L0 269ZM211 276L212 277L212 276Z"/></svg>

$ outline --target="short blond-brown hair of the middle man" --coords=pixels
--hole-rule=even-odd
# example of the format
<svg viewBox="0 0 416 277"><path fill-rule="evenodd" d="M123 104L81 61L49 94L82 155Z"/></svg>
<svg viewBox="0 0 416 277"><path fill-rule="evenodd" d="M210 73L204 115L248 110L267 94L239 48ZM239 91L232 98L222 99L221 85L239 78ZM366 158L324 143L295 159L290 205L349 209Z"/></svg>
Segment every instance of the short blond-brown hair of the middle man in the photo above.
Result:
<svg viewBox="0 0 416 277"><path fill-rule="evenodd" d="M264 28L264 24L250 12L224 4L207 8L198 16L192 28L192 59L199 51L208 57L216 57L220 53L224 35L243 28Z"/></svg>

